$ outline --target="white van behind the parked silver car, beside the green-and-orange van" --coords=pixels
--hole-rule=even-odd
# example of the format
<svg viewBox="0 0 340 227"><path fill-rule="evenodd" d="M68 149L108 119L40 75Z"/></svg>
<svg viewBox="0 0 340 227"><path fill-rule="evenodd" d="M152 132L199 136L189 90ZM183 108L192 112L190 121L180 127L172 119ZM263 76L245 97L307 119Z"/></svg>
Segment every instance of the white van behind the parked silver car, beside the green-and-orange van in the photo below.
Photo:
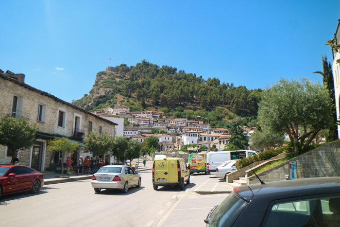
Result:
<svg viewBox="0 0 340 227"><path fill-rule="evenodd" d="M241 159L253 155L257 155L257 152L250 150L208 152L206 153L206 168L208 174L210 174L211 172L216 172L217 166L225 161L229 161L232 159Z"/></svg>

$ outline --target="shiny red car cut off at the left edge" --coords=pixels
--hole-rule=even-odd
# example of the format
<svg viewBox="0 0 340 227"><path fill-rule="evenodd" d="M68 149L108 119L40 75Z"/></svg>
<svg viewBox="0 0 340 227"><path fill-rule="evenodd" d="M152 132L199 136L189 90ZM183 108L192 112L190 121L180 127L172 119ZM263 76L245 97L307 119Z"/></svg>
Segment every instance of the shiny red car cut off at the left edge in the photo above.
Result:
<svg viewBox="0 0 340 227"><path fill-rule="evenodd" d="M38 193L43 185L44 175L30 167L0 164L0 197L24 191Z"/></svg>

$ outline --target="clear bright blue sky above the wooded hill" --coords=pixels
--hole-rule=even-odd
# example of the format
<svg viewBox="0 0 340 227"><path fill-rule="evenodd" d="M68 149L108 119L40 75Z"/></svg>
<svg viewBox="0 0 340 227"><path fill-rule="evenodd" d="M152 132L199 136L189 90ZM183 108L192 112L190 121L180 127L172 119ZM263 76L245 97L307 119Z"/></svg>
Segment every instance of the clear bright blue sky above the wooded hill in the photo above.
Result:
<svg viewBox="0 0 340 227"><path fill-rule="evenodd" d="M0 69L71 102L97 72L142 59L248 89L320 80L339 0L0 1ZM111 60L109 61L109 59Z"/></svg>

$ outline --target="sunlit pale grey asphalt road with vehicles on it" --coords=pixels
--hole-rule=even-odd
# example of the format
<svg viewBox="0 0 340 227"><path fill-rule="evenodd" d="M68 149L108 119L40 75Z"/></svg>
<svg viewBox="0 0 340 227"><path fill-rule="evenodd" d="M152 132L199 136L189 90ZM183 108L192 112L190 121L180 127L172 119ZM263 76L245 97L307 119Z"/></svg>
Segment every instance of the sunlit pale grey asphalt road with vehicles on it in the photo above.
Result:
<svg viewBox="0 0 340 227"><path fill-rule="evenodd" d="M0 199L0 226L11 227L204 227L209 210L228 194L200 195L192 191L199 175L185 186L153 190L152 172L139 173L139 189L95 193L91 180L44 186L38 194L22 192ZM206 176L205 176L206 177ZM202 181L202 179L201 179Z"/></svg>

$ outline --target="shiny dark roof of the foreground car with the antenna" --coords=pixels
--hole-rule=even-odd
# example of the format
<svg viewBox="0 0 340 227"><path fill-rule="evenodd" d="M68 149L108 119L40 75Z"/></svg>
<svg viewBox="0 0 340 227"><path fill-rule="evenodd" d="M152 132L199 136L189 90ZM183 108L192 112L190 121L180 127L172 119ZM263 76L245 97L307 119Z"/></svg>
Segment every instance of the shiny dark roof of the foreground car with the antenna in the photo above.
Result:
<svg viewBox="0 0 340 227"><path fill-rule="evenodd" d="M315 194L339 193L340 177L315 177L252 184L234 188L248 202L253 197L284 199Z"/></svg>

